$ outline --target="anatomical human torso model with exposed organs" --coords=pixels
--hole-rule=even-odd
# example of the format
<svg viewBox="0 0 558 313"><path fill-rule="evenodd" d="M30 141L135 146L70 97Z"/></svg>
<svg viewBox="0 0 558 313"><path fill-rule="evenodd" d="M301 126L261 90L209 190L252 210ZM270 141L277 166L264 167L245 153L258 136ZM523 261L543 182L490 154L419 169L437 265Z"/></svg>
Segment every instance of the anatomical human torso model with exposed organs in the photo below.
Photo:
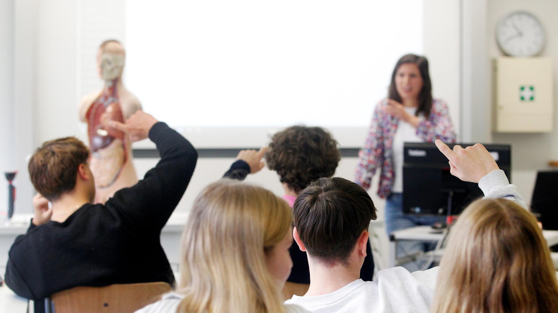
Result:
<svg viewBox="0 0 558 313"><path fill-rule="evenodd" d="M131 141L108 122L123 123L141 110L141 104L122 84L124 49L119 42L103 42L97 65L105 84L101 91L83 97L80 119L88 124L89 165L95 179L95 203L105 203L115 192L138 181L132 163Z"/></svg>

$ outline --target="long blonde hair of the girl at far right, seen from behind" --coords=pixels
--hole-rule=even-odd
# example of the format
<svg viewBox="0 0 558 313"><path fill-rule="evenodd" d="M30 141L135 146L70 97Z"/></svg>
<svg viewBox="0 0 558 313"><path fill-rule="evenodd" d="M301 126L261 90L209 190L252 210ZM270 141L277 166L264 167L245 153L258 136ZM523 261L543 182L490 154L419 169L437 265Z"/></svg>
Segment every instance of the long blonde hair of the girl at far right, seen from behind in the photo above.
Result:
<svg viewBox="0 0 558 313"><path fill-rule="evenodd" d="M558 312L549 248L526 209L477 200L451 229L432 312Z"/></svg>

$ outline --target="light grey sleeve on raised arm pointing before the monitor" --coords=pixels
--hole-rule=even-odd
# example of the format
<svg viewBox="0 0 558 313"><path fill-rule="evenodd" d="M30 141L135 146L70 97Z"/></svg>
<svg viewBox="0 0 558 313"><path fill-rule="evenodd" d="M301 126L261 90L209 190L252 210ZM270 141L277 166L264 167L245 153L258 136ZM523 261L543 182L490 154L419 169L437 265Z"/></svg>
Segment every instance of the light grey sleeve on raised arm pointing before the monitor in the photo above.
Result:
<svg viewBox="0 0 558 313"><path fill-rule="evenodd" d="M527 204L521 194L517 192L516 185L509 183L506 174L501 169L493 170L484 175L479 181L479 188L483 190L484 198L504 198L515 201L519 206L527 209Z"/></svg>

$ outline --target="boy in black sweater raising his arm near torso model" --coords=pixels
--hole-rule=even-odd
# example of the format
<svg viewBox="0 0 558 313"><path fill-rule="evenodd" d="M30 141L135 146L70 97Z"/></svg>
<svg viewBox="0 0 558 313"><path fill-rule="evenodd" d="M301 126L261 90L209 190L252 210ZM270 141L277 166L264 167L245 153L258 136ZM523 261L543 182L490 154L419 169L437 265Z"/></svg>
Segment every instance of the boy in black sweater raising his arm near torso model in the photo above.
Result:
<svg viewBox="0 0 558 313"><path fill-rule="evenodd" d="M138 111L126 124L110 124L133 141L149 137L161 154L157 166L107 203L91 204L95 185L89 150L76 138L49 141L29 163L35 217L9 251L6 283L36 300L75 286L164 281L174 285L160 243L163 226L190 182L198 154L165 123ZM39 300L39 301L37 301Z"/></svg>

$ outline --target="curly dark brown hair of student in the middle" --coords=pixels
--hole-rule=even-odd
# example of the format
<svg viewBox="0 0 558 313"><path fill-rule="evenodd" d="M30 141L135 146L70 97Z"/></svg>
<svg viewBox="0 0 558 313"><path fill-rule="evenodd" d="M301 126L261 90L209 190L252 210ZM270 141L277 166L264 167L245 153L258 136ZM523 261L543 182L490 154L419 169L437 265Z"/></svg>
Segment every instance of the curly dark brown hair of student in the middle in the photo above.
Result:
<svg viewBox="0 0 558 313"><path fill-rule="evenodd" d="M311 182L331 177L341 159L338 143L323 128L291 126L272 136L267 167L296 193Z"/></svg>

